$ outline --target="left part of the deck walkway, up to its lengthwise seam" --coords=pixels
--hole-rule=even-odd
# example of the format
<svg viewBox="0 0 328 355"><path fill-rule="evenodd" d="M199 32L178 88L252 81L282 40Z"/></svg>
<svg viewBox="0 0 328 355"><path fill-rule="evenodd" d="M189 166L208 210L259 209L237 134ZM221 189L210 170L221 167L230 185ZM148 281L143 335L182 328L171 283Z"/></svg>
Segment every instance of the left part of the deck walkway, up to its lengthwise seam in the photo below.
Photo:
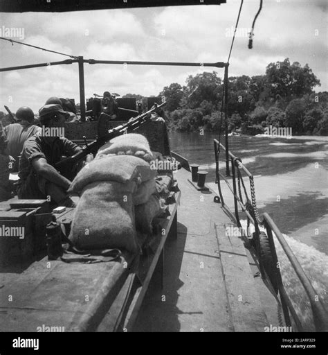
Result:
<svg viewBox="0 0 328 355"><path fill-rule="evenodd" d="M166 245L164 288L149 291L134 330L231 331L214 230L215 218L227 218L212 202L213 193L190 185L190 173L178 171L176 178L178 240Z"/></svg>

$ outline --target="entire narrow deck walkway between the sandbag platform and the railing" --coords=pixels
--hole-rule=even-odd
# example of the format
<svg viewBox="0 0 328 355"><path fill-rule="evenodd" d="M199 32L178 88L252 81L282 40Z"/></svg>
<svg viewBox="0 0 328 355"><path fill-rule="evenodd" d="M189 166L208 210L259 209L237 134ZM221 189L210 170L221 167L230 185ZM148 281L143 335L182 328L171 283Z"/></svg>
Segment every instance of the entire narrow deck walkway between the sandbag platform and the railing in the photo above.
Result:
<svg viewBox="0 0 328 355"><path fill-rule="evenodd" d="M135 330L264 331L266 315L246 250L225 233L230 219L213 202L213 191L196 191L188 183L190 173L178 171L176 178L178 241L165 249L164 288L149 290Z"/></svg>

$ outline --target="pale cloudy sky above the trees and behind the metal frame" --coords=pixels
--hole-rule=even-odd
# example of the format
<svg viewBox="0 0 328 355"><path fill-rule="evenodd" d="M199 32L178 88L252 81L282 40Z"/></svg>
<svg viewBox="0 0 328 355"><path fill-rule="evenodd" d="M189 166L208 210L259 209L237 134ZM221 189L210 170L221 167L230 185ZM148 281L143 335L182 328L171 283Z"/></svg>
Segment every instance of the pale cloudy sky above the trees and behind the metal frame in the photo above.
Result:
<svg viewBox="0 0 328 355"><path fill-rule="evenodd" d="M206 3L206 1L204 1ZM255 24L253 49L248 33L258 0L246 0L230 58L229 76L262 75L270 62L289 58L309 64L328 90L327 1L264 0ZM221 6L174 6L64 13L0 13L0 34L6 28L18 40L70 55L98 60L226 62L240 1ZM7 31L7 33L6 33ZM67 57L0 40L0 67L65 60ZM85 64L86 98L104 91L158 95L171 83L185 85L189 75L222 69L205 67L142 67ZM51 96L79 102L78 64L0 73L0 110L22 105L35 112Z"/></svg>

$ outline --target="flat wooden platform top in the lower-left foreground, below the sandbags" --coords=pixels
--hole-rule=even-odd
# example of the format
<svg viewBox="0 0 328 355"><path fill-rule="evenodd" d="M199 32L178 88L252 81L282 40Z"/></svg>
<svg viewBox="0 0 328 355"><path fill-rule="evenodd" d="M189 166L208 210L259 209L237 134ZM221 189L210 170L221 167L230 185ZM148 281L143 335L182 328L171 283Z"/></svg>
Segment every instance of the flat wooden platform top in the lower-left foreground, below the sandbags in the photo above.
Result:
<svg viewBox="0 0 328 355"><path fill-rule="evenodd" d="M82 315L92 313L90 304L102 290L102 285L113 278L112 270L121 268L122 273L126 272L123 262L129 263L131 257L126 258L95 264L51 261L51 268L48 268L48 258L45 257L33 263L13 283L10 282L12 277L8 277L6 283L6 275L2 274L0 330L35 331L36 327L51 325L48 323L56 319L60 322L57 325L65 327L66 331L77 330ZM40 324L41 320L47 321Z"/></svg>

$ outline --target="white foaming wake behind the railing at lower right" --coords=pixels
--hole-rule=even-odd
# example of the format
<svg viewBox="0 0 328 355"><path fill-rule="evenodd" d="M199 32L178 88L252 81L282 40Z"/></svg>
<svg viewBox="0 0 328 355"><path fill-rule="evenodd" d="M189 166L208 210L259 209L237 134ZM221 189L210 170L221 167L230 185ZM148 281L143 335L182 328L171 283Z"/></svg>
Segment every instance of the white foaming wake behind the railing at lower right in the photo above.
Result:
<svg viewBox="0 0 328 355"><path fill-rule="evenodd" d="M241 220L241 223L242 227L246 229L247 221ZM260 230L265 232L264 228L260 227ZM250 232L254 232L253 225L251 225ZM295 257L300 262L305 274L309 277L309 280L318 295L318 300L321 300L325 309L328 310L328 256L319 252L312 246L293 239L291 236L286 234L283 235L286 242L289 244L289 247L293 250ZM307 297L307 293L305 293L298 276L293 270L293 266L291 266L289 259L286 257L286 254L274 233L273 239L275 242L275 250L277 251L277 259L280 263L282 283L284 284L286 293L291 299L298 318L300 318L300 322L304 327L304 331L316 331L313 324L313 315L309 297Z"/></svg>

